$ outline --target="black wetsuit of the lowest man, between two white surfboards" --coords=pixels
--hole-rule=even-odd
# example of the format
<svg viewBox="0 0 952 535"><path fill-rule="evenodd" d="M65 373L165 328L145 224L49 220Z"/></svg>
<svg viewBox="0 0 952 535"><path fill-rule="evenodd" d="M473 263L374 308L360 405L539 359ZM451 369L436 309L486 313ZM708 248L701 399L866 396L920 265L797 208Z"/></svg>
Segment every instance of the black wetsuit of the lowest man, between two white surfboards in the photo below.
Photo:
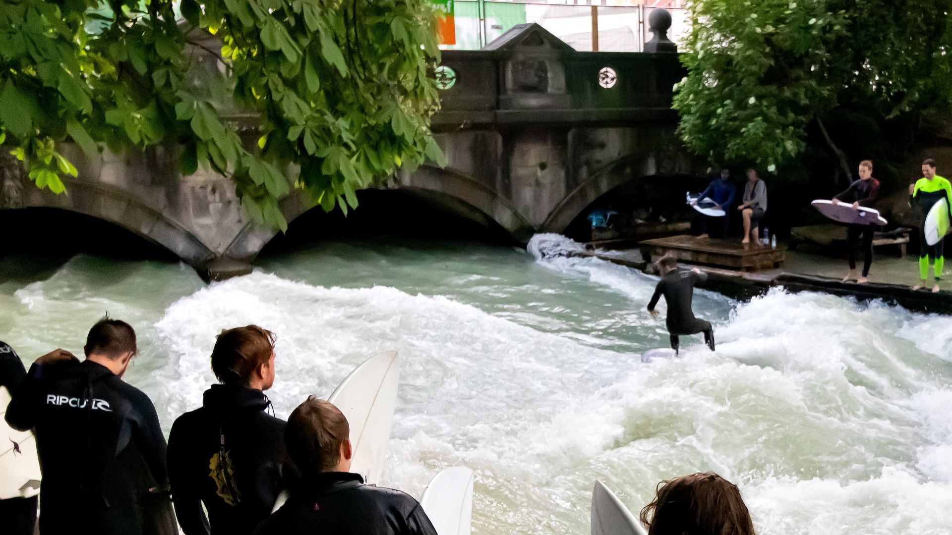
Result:
<svg viewBox="0 0 952 535"><path fill-rule="evenodd" d="M254 535L436 535L409 494L364 485L360 475L325 472L301 479L288 503Z"/></svg>

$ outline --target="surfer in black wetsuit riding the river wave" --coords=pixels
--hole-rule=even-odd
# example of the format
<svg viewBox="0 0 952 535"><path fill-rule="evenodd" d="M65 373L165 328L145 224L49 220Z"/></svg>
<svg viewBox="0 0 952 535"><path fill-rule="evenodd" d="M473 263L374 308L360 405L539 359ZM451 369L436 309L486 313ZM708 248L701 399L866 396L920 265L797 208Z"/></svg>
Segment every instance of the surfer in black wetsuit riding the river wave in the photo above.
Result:
<svg viewBox="0 0 952 535"><path fill-rule="evenodd" d="M687 334L704 333L704 343L714 350L714 327L710 322L699 320L694 317L694 311L691 310L691 298L694 296L694 286L704 284L707 280L707 274L698 268L690 271L681 271L678 269L678 261L675 257L665 254L658 260L658 268L661 271L661 280L655 287L654 295L648 302L648 312L652 315L658 315L655 305L664 294L664 302L667 303L667 331L671 335L671 348L675 354L678 353L680 341L678 337Z"/></svg>

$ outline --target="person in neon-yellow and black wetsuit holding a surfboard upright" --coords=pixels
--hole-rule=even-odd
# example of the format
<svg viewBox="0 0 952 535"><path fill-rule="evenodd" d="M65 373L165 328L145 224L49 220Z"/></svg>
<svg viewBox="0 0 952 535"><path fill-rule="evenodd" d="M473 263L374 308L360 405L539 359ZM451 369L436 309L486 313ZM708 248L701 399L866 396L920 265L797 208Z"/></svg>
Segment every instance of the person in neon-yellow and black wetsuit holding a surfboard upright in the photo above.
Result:
<svg viewBox="0 0 952 535"><path fill-rule="evenodd" d="M926 286L926 279L929 276L929 257L931 256L935 263L932 268L933 276L936 279L932 291L935 293L939 291L942 268L945 266L942 242L944 242L944 235L948 230L949 213L952 213L952 209L950 209L952 186L949 185L948 180L936 174L936 161L928 158L922 162L922 178L916 181L916 184L909 185L909 195L911 196L910 201L917 201L919 208L922 210L922 224L919 227L919 278L922 284L918 284L912 289L918 290ZM936 208L936 204L940 202L944 203L944 210L940 206L940 209L934 211L933 208ZM928 239L930 235L935 240L931 244Z"/></svg>

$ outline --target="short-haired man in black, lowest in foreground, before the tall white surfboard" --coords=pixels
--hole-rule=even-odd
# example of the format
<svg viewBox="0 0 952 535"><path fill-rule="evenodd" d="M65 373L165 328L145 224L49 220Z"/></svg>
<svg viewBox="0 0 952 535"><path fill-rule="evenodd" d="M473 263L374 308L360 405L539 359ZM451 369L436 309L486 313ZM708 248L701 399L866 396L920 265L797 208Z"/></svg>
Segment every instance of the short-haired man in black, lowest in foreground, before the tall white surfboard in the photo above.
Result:
<svg viewBox="0 0 952 535"><path fill-rule="evenodd" d="M313 396L294 409L285 444L302 478L255 535L436 535L423 507L399 490L364 485L350 469L344 414Z"/></svg>

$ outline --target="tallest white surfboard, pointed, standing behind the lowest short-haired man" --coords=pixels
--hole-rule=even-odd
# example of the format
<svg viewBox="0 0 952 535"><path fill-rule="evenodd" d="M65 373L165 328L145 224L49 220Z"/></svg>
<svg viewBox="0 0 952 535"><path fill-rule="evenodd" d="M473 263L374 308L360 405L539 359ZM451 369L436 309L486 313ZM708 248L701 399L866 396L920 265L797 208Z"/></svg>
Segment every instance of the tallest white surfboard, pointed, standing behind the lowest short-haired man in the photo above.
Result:
<svg viewBox="0 0 952 535"><path fill-rule="evenodd" d="M396 351L385 351L355 367L327 398L347 418L353 454L350 471L363 476L367 485L380 481L384 471L399 385L400 358ZM272 511L287 501L285 490Z"/></svg>

